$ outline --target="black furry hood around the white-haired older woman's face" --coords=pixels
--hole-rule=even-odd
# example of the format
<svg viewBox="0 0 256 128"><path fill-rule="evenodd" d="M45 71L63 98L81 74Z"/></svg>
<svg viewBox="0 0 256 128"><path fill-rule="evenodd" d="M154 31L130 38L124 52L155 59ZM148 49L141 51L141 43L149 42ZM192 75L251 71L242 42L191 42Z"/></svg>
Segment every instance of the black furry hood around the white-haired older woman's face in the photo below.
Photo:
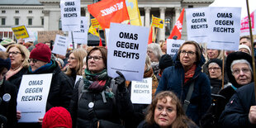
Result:
<svg viewBox="0 0 256 128"><path fill-rule="evenodd" d="M249 62L249 64L251 65L251 67L253 67L253 60L252 60L252 56L247 54L247 53L244 53L244 52L241 52L241 51L237 51L237 52L233 52L233 53L230 53L227 58L226 58L226 61L225 61L225 69L226 69L226 73L228 75L228 78L230 80L230 83L232 83L236 88L239 88L241 87L241 85L239 85L236 81L235 81L235 77L233 76L232 74L232 71L231 71L231 64L234 60L237 60L237 59L245 59ZM253 74L252 74L252 81L254 81L254 77L253 77Z"/></svg>

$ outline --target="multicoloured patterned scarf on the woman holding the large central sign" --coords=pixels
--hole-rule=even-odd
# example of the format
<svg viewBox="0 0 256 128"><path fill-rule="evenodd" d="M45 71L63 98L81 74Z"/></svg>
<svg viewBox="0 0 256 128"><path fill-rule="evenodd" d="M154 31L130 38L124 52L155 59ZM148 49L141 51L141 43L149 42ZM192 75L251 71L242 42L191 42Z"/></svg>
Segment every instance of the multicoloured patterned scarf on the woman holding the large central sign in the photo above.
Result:
<svg viewBox="0 0 256 128"><path fill-rule="evenodd" d="M101 73L91 73L88 69L84 70L85 78L83 78L84 88L92 92L102 92L104 88L109 86L107 69Z"/></svg>

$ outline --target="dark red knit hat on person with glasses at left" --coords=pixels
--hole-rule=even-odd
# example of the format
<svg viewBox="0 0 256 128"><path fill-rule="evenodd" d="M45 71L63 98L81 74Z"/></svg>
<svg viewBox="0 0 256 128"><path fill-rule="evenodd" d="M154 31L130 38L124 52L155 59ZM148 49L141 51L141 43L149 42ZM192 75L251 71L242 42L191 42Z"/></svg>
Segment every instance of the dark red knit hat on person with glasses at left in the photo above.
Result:
<svg viewBox="0 0 256 128"><path fill-rule="evenodd" d="M38 59L44 62L50 62L50 48L42 43L36 45L36 48L31 51L30 59Z"/></svg>

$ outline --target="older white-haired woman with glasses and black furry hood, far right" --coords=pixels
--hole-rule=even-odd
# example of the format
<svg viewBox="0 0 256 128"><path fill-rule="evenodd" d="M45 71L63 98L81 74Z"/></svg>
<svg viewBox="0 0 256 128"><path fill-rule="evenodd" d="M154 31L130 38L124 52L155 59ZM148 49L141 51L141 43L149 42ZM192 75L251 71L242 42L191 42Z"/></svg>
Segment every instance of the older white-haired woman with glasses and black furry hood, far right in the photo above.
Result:
<svg viewBox="0 0 256 128"><path fill-rule="evenodd" d="M225 97L227 104L237 88L254 82L252 57L241 51L230 53L226 58L225 69L232 84L220 90L219 94ZM225 104L220 111L225 109Z"/></svg>

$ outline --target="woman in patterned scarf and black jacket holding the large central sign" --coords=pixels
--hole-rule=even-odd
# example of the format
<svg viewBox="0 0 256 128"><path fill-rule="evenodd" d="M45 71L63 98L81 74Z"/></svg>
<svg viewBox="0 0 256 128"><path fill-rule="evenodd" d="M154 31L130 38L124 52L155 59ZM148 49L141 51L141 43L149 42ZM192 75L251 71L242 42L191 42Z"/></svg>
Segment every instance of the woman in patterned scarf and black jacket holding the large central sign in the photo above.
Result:
<svg viewBox="0 0 256 128"><path fill-rule="evenodd" d="M107 49L94 47L88 52L87 69L83 80L73 90L70 113L73 126L82 127L123 127L121 119L132 110L126 78L110 78L107 75ZM114 84L115 83L115 84Z"/></svg>

